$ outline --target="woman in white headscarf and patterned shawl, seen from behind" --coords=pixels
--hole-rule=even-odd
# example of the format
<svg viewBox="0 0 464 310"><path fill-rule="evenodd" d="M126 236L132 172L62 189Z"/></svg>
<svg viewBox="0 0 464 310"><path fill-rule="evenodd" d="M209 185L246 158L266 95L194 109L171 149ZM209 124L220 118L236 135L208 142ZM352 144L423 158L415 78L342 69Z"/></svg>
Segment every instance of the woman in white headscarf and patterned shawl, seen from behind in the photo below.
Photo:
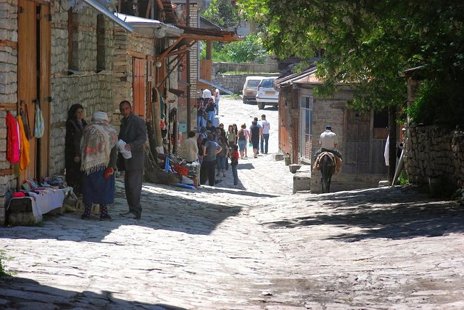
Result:
<svg viewBox="0 0 464 310"><path fill-rule="evenodd" d="M111 220L107 204L115 202L115 168L117 161L117 133L108 115L96 112L85 127L81 139L81 171L83 177L82 219L90 218L92 204L100 205L100 220Z"/></svg>

